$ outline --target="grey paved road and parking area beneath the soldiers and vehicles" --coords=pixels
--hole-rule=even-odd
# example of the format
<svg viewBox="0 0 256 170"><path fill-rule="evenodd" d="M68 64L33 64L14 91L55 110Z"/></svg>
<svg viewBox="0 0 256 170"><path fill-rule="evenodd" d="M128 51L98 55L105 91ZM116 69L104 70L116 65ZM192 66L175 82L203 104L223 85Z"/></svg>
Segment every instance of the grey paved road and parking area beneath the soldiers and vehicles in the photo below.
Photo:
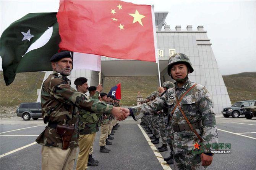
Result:
<svg viewBox="0 0 256 170"><path fill-rule="evenodd" d="M212 165L207 169L255 169L256 119L248 120L244 117L233 119L222 116L217 116L216 119L219 143L230 143L231 149L228 150L231 154L215 154ZM41 169L41 146L34 144L34 141L44 127L42 119L37 121L23 121L21 118L1 119L1 170ZM167 167L161 158L169 156L169 151L160 154L153 151L154 145L147 141L143 130L131 118L120 122L120 127L113 136L115 137L112 140L113 145L107 146L111 149L110 153L99 153L99 135L100 133L96 135L93 156L100 163L97 167L89 167L91 170L161 170L163 167L173 169L172 166ZM29 144L31 146L28 146ZM155 146L158 147L160 144ZM9 154L5 156L6 153Z"/></svg>

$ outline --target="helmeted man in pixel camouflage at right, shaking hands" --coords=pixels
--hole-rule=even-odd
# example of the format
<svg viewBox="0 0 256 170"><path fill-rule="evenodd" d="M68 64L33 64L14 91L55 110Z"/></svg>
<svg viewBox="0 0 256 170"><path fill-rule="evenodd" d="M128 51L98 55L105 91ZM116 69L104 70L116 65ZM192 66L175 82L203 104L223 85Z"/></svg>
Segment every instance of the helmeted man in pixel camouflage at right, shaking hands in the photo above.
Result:
<svg viewBox="0 0 256 170"><path fill-rule="evenodd" d="M204 169L212 163L211 149L207 144L218 143L213 102L206 87L188 79L192 73L190 59L185 54L174 54L169 59L168 74L176 81L154 101L130 109L122 108L134 119L143 113L153 114L169 108L171 116L167 132L171 134L175 169ZM195 150L200 144L200 150Z"/></svg>

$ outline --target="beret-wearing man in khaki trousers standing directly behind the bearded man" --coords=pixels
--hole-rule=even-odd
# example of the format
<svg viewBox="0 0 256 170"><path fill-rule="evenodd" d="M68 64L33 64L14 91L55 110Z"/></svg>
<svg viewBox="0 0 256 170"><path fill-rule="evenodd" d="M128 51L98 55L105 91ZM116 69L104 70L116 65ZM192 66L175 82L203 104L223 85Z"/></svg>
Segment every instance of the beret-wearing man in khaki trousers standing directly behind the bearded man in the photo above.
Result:
<svg viewBox="0 0 256 170"><path fill-rule="evenodd" d="M88 91L87 78L79 77L75 79L74 84L78 92L86 93ZM91 96L90 99L97 99L99 93L102 91L102 86L98 86L95 92L95 96ZM98 117L96 113L78 108L79 111L79 154L76 162L76 170L87 169L89 160L89 151L94 142L96 132L99 131ZM92 155L91 157L92 158ZM91 159L90 159L91 160ZM90 166L98 166L98 163L90 161Z"/></svg>

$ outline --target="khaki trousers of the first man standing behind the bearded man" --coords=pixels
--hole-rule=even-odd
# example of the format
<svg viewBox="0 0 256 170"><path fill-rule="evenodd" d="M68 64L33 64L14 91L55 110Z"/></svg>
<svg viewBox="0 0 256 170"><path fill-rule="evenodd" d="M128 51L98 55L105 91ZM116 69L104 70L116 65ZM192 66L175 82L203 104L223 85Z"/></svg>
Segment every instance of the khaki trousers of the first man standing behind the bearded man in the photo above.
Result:
<svg viewBox="0 0 256 170"><path fill-rule="evenodd" d="M86 170L89 150L93 143L96 133L79 135L79 154L76 162L76 170Z"/></svg>

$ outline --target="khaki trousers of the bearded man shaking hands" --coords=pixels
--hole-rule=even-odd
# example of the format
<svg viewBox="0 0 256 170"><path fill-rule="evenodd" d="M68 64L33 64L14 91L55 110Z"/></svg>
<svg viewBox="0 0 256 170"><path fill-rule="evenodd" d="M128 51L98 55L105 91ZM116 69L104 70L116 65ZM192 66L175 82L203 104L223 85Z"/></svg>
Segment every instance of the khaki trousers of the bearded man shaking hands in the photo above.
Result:
<svg viewBox="0 0 256 170"><path fill-rule="evenodd" d="M42 170L73 170L77 151L42 146Z"/></svg>

